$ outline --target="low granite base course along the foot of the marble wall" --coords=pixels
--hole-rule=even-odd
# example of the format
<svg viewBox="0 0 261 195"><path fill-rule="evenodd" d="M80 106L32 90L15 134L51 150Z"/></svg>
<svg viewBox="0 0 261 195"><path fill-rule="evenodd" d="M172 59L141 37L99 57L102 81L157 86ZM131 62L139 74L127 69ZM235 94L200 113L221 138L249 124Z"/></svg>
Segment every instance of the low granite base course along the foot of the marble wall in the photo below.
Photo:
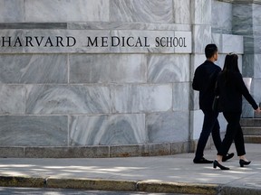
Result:
<svg viewBox="0 0 261 195"><path fill-rule="evenodd" d="M0 158L109 158L189 153L197 141L75 147L0 147Z"/></svg>

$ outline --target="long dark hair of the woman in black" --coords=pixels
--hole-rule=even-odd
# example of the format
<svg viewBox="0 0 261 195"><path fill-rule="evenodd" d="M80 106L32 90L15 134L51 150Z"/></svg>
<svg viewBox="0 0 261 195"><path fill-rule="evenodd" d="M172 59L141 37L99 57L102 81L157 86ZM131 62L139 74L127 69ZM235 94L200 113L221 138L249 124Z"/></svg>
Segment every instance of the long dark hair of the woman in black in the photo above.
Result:
<svg viewBox="0 0 261 195"><path fill-rule="evenodd" d="M240 72L238 69L238 56L235 53L229 53L226 56L224 68L222 73L225 75L225 83L229 85L231 83L231 73Z"/></svg>

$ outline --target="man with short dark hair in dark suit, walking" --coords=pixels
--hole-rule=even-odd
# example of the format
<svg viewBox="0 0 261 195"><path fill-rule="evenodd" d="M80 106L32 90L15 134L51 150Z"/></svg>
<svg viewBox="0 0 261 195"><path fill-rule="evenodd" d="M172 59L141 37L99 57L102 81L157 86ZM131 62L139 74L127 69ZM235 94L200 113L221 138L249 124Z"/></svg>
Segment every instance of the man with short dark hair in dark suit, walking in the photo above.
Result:
<svg viewBox="0 0 261 195"><path fill-rule="evenodd" d="M199 108L204 113L204 122L198 139L194 163L213 163L213 161L208 161L204 158L204 149L210 133L217 150L221 146L218 112L212 110L215 84L218 73L221 71L221 68L214 63L218 60L217 45L208 44L205 48L205 55L207 60L196 69L192 83L192 88L199 91ZM233 156L234 153L228 153L227 156L223 157L222 161L225 162Z"/></svg>

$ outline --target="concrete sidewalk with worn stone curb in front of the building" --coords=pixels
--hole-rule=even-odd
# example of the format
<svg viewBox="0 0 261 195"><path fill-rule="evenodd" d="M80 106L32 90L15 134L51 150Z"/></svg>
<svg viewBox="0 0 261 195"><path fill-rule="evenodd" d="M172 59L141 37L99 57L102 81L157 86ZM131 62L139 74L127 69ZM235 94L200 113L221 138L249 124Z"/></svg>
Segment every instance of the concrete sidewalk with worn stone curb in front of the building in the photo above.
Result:
<svg viewBox="0 0 261 195"><path fill-rule="evenodd" d="M194 164L194 153L99 159L0 159L0 186L127 190L191 194L261 194L261 144L246 144L252 163ZM234 144L230 152L235 152ZM216 150L205 157L215 159Z"/></svg>

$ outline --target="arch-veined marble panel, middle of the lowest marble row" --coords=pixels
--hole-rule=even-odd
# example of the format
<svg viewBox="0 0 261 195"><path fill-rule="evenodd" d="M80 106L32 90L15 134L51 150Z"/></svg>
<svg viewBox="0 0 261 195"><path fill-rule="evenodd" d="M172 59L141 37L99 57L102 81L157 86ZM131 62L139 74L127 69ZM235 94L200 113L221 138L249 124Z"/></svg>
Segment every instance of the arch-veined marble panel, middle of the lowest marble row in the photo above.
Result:
<svg viewBox="0 0 261 195"><path fill-rule="evenodd" d="M70 117L70 145L124 145L147 141L144 114Z"/></svg>

